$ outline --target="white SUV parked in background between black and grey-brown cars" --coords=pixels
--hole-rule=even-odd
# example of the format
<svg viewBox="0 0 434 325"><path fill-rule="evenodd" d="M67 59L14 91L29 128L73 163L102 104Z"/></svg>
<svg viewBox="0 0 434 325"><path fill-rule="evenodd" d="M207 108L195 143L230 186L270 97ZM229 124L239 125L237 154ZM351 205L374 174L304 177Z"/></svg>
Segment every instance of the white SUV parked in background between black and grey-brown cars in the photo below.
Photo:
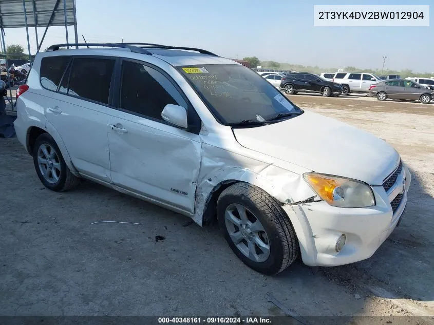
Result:
<svg viewBox="0 0 434 325"><path fill-rule="evenodd" d="M341 84L344 89L342 94L347 95L350 92L369 92L369 87L381 79L372 73L337 72L332 81Z"/></svg>

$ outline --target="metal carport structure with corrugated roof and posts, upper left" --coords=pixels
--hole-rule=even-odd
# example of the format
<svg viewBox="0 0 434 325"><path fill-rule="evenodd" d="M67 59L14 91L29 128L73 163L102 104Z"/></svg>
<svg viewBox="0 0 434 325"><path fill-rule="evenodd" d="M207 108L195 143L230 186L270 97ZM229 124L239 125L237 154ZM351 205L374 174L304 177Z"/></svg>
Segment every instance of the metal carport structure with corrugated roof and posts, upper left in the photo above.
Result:
<svg viewBox="0 0 434 325"><path fill-rule="evenodd" d="M5 28L26 28L29 61L32 62L30 51L29 27L34 27L37 52L41 50L48 27L65 26L66 43L69 43L68 26L74 26L74 39L78 43L76 0L0 0L0 30L2 33L2 51L0 56L6 60ZM39 41L37 27L45 27ZM12 55L10 55L12 56ZM9 80L8 65L6 64ZM14 110L12 90L9 87L11 110Z"/></svg>

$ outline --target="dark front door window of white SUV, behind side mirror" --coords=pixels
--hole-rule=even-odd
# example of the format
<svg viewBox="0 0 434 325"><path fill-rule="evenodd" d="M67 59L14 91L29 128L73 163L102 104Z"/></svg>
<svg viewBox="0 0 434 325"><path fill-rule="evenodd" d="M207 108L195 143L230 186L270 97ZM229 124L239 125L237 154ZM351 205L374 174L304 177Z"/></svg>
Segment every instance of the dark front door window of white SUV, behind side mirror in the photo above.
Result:
<svg viewBox="0 0 434 325"><path fill-rule="evenodd" d="M120 108L163 121L161 112L167 104L187 108L181 94L161 72L140 63L122 63Z"/></svg>

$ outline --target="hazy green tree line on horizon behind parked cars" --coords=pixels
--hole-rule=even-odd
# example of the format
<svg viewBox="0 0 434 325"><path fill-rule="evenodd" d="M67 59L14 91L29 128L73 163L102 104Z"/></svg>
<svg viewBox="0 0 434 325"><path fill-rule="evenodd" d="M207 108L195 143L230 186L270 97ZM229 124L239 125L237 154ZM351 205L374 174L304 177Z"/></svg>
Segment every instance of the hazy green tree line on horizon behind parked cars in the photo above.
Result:
<svg viewBox="0 0 434 325"><path fill-rule="evenodd" d="M303 71L303 72L310 72L310 73L322 73L322 72L336 72L338 69L343 69L344 71L354 71L354 72L369 72L376 75L389 75L389 74L398 74L401 76L401 78L407 78L407 77L421 77L421 78L430 78L433 76L433 73L430 72L413 72L410 69L404 69L404 70L391 70L391 69L384 69L383 72L381 69L359 69L356 67L348 66L344 68L321 68L317 65L315 66L304 66L301 64L290 64L290 63L280 63L275 61L260 61L256 56L251 56L247 58L243 58L242 60L250 62L250 65L252 68L256 68L257 66L261 66L262 69L281 69L281 70L291 70L291 71Z"/></svg>

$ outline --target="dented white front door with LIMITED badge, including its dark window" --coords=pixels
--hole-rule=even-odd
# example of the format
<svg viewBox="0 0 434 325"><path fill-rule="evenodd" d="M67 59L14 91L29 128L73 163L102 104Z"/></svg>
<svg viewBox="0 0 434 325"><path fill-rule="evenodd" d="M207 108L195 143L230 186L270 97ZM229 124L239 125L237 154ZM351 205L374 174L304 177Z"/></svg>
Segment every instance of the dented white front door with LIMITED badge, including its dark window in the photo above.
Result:
<svg viewBox="0 0 434 325"><path fill-rule="evenodd" d="M112 182L193 213L201 141L161 117L167 104L193 108L158 68L123 61L120 74L119 109L108 133Z"/></svg>

